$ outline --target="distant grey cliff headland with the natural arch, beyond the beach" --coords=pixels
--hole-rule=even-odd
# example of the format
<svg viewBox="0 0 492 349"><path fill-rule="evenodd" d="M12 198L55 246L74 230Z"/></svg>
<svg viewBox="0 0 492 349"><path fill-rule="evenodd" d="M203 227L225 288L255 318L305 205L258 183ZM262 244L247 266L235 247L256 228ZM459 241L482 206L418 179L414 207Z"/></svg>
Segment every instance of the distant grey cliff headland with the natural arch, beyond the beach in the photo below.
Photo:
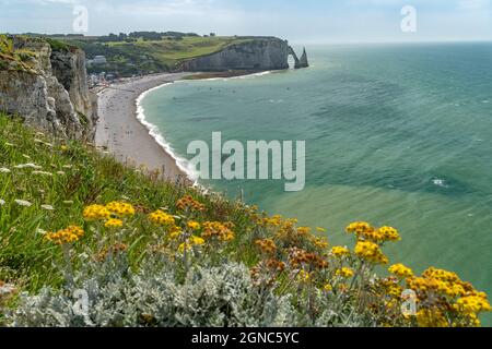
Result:
<svg viewBox="0 0 492 349"><path fill-rule="evenodd" d="M186 61L183 70L282 70L289 69L289 55L293 55L298 61L285 40L274 37L239 38L237 44L232 44L220 52Z"/></svg>

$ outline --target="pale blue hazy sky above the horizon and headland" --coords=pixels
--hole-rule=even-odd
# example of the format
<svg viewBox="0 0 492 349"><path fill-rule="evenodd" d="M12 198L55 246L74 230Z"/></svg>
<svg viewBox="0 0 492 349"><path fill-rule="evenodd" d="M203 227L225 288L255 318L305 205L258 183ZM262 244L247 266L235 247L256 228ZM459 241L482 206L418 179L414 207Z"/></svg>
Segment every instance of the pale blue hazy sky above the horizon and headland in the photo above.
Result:
<svg viewBox="0 0 492 349"><path fill-rule="evenodd" d="M87 10L85 35L213 32L294 44L492 40L492 0L0 0L0 33L75 33L80 5ZM407 5L414 16L401 13ZM414 31L403 32L402 21Z"/></svg>

